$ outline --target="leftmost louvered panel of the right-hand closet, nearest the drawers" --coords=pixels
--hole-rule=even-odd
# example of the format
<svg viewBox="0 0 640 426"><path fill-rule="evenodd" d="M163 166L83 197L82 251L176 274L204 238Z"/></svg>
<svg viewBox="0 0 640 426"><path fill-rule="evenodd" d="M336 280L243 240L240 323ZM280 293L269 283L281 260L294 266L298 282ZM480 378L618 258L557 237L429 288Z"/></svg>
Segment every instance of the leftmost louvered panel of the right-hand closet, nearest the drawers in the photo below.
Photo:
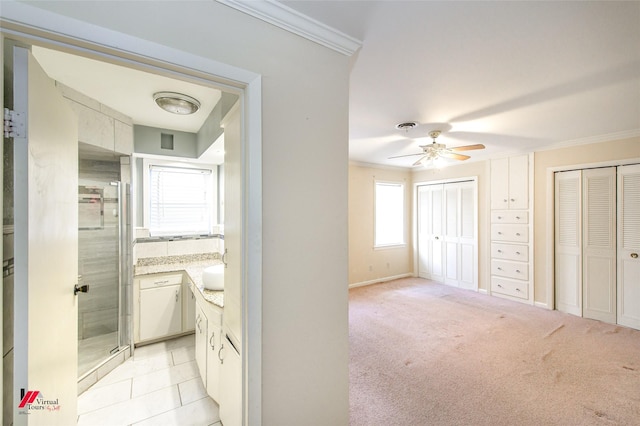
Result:
<svg viewBox="0 0 640 426"><path fill-rule="evenodd" d="M582 171L555 175L556 309L582 316Z"/></svg>

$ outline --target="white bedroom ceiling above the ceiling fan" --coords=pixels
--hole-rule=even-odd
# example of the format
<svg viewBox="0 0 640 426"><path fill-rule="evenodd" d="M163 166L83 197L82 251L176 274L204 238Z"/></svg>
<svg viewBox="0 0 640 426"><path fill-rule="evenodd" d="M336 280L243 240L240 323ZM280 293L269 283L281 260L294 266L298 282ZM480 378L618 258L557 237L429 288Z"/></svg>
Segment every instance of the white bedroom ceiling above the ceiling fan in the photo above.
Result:
<svg viewBox="0 0 640 426"><path fill-rule="evenodd" d="M388 157L438 128L449 147L487 147L468 161L640 135L638 1L281 3L362 41L351 160L410 167Z"/></svg>

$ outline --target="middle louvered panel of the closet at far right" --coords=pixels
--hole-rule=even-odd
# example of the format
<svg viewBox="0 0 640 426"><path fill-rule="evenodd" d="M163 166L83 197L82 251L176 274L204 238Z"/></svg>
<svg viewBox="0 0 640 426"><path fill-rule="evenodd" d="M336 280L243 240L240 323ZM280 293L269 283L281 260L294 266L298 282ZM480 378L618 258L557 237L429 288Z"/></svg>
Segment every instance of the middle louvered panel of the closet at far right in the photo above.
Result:
<svg viewBox="0 0 640 426"><path fill-rule="evenodd" d="M582 172L585 318L616 323L616 168Z"/></svg>

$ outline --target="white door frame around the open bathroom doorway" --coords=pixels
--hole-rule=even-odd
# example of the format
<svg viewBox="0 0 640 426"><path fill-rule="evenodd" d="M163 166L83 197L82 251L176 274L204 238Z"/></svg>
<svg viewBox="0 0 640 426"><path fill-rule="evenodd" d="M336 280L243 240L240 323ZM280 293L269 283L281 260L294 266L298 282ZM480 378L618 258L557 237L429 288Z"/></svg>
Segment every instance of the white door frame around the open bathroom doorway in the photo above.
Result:
<svg viewBox="0 0 640 426"><path fill-rule="evenodd" d="M3 2L4 38L49 48L64 48L94 59L142 68L241 97L243 122L242 353L243 423L262 420L262 99L261 76L116 31L79 22L17 2ZM177 66L175 64L181 64Z"/></svg>

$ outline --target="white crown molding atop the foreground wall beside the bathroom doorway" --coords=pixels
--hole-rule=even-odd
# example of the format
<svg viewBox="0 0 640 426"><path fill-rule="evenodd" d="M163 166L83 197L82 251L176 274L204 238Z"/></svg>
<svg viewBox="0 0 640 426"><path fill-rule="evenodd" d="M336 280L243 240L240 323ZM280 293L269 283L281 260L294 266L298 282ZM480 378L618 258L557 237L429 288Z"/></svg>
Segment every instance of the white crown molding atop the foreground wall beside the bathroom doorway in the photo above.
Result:
<svg viewBox="0 0 640 426"><path fill-rule="evenodd" d="M216 0L240 12L297 34L322 46L351 56L360 49L362 41L344 34L322 22L279 3L276 0Z"/></svg>

